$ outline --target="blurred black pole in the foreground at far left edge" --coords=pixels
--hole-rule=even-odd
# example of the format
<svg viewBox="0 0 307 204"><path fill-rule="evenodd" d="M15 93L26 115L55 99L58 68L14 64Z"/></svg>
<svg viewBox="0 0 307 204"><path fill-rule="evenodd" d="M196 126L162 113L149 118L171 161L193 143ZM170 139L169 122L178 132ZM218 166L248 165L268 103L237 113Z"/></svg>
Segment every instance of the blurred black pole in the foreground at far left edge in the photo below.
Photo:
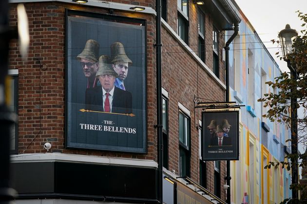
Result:
<svg viewBox="0 0 307 204"><path fill-rule="evenodd" d="M9 187L10 132L15 114L5 104L5 77L8 71L8 49L11 32L8 24L8 0L0 0L0 203L9 204L15 190Z"/></svg>

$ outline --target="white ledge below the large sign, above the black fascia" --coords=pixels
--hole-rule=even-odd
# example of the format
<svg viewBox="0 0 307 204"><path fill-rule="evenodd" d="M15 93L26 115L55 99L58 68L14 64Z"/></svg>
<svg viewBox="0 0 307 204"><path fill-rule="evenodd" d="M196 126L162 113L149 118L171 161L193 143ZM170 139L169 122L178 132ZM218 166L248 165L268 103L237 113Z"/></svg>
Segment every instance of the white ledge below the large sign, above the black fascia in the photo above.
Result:
<svg viewBox="0 0 307 204"><path fill-rule="evenodd" d="M128 159L118 157L92 156L65 153L26 153L11 155L12 163L20 162L74 162L86 164L133 166L157 169L158 164L153 160Z"/></svg>

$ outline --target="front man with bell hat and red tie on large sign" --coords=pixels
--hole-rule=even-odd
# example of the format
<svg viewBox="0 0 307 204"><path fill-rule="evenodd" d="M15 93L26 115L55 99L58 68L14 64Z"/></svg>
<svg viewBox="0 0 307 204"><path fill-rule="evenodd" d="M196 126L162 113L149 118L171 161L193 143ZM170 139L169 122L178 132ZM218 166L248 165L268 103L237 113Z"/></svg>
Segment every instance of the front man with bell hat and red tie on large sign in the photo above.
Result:
<svg viewBox="0 0 307 204"><path fill-rule="evenodd" d="M101 55L96 73L101 86L86 89L86 109L109 113L132 113L132 94L115 87L116 77L118 74L109 64L108 56Z"/></svg>

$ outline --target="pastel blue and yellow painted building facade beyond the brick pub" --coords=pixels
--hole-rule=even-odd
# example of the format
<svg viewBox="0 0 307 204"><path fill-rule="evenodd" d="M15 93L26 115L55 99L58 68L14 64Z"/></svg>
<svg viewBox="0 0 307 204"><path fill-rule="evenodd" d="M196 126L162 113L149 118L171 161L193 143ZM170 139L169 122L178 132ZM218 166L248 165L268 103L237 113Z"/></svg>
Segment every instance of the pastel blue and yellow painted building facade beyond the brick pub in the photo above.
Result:
<svg viewBox="0 0 307 204"><path fill-rule="evenodd" d="M263 118L268 107L257 100L277 93L265 83L281 70L242 11L240 17L239 33L230 45L230 98L245 107L240 111L240 159L231 162L231 203L280 203L291 197L291 173L281 166L264 167L284 161L290 130Z"/></svg>

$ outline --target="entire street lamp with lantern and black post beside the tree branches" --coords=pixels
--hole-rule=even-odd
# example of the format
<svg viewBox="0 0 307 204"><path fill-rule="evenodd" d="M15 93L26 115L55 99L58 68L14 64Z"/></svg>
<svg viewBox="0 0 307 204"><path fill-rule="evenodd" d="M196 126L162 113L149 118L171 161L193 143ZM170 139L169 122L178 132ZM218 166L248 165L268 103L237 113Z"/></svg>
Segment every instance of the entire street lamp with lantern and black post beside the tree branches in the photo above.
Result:
<svg viewBox="0 0 307 204"><path fill-rule="evenodd" d="M294 29L290 28L290 25L287 24L286 28L281 30L278 34L278 37L280 39L281 48L283 52L284 60L287 62L287 67L290 69L290 76L295 81L297 80L297 73L296 73L296 66L295 64L292 64L290 59L288 58L288 54L295 51L295 48L292 47L293 40L296 38L297 32ZM291 87L291 92L296 91L296 86ZM297 154L297 97L292 96L291 97L291 153ZM292 166L292 184L298 184L298 165L297 165L297 159L295 162L296 165ZM293 188L292 189L292 198L298 198L298 191Z"/></svg>

